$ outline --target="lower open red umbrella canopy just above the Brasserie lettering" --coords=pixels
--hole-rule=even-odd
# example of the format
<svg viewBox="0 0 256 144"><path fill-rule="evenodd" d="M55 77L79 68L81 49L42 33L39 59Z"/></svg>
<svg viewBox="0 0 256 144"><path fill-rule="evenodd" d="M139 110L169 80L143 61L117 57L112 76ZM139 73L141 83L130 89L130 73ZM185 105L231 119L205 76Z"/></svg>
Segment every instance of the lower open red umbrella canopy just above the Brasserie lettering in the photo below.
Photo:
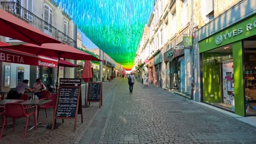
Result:
<svg viewBox="0 0 256 144"><path fill-rule="evenodd" d="M90 60L90 61L101 61L100 59L86 53L75 49L66 44L56 44L48 43L42 44L42 46L34 44L20 44L20 45L11 45L11 46L0 46L9 50L17 50L22 52L31 53L37 56L48 56L48 57L57 57L57 58L67 58L74 60Z"/></svg>

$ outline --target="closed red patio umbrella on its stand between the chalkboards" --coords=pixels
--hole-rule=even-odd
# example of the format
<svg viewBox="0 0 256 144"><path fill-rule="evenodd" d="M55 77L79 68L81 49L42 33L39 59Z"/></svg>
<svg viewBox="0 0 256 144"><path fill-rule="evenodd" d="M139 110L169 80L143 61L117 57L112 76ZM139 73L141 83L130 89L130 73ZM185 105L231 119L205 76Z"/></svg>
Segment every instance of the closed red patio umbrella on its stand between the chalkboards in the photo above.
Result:
<svg viewBox="0 0 256 144"><path fill-rule="evenodd" d="M92 78L92 71L91 71L91 61L84 61L84 70L82 74L82 79L85 81L85 98L84 98L84 106L83 107L89 107L86 105L86 87L87 82L90 81L90 78Z"/></svg>

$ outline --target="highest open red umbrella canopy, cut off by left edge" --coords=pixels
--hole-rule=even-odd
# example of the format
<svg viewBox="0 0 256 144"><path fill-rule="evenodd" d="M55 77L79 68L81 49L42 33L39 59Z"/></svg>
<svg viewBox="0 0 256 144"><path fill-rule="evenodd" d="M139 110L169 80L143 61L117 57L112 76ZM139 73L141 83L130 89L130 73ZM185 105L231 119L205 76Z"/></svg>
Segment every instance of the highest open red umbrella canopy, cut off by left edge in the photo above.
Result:
<svg viewBox="0 0 256 144"><path fill-rule="evenodd" d="M61 41L51 38L37 28L18 19L7 11L0 9L0 35L14 38L27 43L42 45L44 43L61 43Z"/></svg>

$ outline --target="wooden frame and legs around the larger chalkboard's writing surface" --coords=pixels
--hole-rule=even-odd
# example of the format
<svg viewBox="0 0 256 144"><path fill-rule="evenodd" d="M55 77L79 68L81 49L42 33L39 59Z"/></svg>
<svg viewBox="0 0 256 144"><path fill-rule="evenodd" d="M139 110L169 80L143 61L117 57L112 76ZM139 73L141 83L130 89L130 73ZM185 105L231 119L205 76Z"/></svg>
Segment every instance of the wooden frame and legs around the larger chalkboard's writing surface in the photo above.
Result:
<svg viewBox="0 0 256 144"><path fill-rule="evenodd" d="M56 116L56 113L57 113L57 106L59 105L59 98L60 98L60 89L62 87L77 87L78 88L78 96L77 96L77 107L76 107L76 110L75 110L75 117L57 117ZM56 105L54 107L54 117L53 117L53 127L52 127L52 130L54 129L54 121L55 119L75 119L74 121L74 131L75 131L75 127L76 127L76 124L77 124L77 114L78 114L78 107L79 107L79 104L80 104L80 95L81 94L81 86L60 86L59 89L58 89L58 94L57 94L57 98L56 98ZM80 101L80 102L79 102Z"/></svg>

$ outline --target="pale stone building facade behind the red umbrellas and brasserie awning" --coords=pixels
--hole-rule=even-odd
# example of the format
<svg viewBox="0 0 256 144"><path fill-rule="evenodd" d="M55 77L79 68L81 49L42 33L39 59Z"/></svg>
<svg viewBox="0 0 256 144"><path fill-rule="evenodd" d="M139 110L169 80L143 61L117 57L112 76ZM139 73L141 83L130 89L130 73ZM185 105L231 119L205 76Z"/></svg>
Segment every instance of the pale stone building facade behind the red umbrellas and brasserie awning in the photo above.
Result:
<svg viewBox="0 0 256 144"><path fill-rule="evenodd" d="M68 15L63 13L63 11L50 0L1 1L0 8L64 44L73 47L77 46L77 30L74 23ZM0 40L10 45L24 43L20 40L2 36L0 36ZM72 60L66 60L73 63ZM9 81L9 85L0 84L2 92L9 91L10 88L15 88L18 82L24 79L30 80L30 86L33 85L37 78L42 79L45 85L54 85L57 81L56 68L6 62L0 62L0 65L1 70L7 67L10 68L9 80L5 80L4 73L1 73L1 83ZM59 77L73 78L75 77L75 69L60 67Z"/></svg>

